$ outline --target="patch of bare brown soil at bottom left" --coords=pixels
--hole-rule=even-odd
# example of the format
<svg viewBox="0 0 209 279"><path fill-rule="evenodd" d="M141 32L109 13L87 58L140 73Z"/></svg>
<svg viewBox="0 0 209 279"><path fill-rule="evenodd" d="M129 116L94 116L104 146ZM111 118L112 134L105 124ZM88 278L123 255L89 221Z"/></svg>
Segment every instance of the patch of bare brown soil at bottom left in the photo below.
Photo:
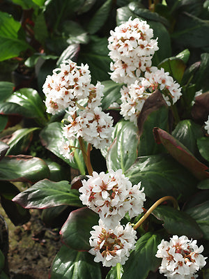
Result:
<svg viewBox="0 0 209 279"><path fill-rule="evenodd" d="M49 278L52 261L62 246L59 229L45 227L38 210L31 210L29 222L16 227L10 222L2 208L0 214L8 225L9 278Z"/></svg>

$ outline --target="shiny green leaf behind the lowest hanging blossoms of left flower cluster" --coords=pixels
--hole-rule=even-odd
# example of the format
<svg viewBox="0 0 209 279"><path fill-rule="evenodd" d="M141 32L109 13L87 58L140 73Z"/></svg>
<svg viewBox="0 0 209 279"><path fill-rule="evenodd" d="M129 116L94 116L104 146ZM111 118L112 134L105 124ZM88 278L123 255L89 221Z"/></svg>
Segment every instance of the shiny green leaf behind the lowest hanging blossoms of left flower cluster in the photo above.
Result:
<svg viewBox="0 0 209 279"><path fill-rule="evenodd" d="M74 162L70 162L70 160L65 159L59 152L59 146L62 144L63 140L65 140L62 134L61 123L49 123L49 125L43 128L40 132L40 140L46 149L52 151L56 156L64 160L71 167L79 169L81 174L85 174L84 159L80 149L75 149ZM72 146L79 146L78 140L70 140L70 144Z"/></svg>

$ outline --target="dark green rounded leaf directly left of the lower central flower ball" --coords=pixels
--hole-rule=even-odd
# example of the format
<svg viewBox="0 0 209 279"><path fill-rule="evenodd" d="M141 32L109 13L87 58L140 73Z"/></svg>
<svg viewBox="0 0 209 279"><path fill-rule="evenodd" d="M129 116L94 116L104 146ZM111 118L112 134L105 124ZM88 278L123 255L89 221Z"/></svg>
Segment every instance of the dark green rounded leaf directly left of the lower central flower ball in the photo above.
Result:
<svg viewBox="0 0 209 279"><path fill-rule="evenodd" d="M63 243L74 250L90 250L90 231L98 220L98 214L88 207L72 211L60 231Z"/></svg>

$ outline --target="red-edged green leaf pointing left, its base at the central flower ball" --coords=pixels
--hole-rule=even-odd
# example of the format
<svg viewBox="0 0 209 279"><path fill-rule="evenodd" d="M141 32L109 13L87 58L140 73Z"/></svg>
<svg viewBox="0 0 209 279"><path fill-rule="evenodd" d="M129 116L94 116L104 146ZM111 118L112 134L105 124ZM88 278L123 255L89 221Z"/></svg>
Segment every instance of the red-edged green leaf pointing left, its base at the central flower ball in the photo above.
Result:
<svg viewBox="0 0 209 279"><path fill-rule="evenodd" d="M47 209L59 205L82 206L79 192L70 189L68 181L54 182L48 179L38 181L13 198L25 209Z"/></svg>

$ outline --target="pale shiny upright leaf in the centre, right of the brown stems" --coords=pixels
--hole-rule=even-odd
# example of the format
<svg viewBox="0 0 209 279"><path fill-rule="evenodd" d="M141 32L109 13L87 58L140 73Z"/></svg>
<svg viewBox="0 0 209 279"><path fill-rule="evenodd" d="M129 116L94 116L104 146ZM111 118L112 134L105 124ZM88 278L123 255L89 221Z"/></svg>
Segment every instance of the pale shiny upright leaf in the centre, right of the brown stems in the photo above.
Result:
<svg viewBox="0 0 209 279"><path fill-rule="evenodd" d="M130 121L121 121L120 127L107 151L107 168L125 172L137 158L138 135L137 127Z"/></svg>

